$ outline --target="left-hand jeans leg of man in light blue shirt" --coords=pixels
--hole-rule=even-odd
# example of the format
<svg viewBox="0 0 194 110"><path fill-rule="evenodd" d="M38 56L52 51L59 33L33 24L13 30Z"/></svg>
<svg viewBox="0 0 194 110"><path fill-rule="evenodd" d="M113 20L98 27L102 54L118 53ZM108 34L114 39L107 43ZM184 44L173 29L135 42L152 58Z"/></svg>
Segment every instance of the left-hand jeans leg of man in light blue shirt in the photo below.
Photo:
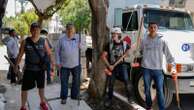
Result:
<svg viewBox="0 0 194 110"><path fill-rule="evenodd" d="M69 82L69 75L70 69L68 68L61 68L61 99L67 99L68 97L68 82Z"/></svg>

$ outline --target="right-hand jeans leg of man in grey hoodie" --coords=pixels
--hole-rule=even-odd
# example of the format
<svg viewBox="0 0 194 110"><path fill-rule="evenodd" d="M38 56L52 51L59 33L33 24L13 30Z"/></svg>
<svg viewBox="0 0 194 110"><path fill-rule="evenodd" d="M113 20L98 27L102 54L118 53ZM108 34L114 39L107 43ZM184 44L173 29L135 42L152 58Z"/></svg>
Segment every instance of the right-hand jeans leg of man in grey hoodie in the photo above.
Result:
<svg viewBox="0 0 194 110"><path fill-rule="evenodd" d="M159 110L165 110L165 100L164 100L164 75L162 70L153 70L153 79L156 84L156 91L157 91L157 100Z"/></svg>

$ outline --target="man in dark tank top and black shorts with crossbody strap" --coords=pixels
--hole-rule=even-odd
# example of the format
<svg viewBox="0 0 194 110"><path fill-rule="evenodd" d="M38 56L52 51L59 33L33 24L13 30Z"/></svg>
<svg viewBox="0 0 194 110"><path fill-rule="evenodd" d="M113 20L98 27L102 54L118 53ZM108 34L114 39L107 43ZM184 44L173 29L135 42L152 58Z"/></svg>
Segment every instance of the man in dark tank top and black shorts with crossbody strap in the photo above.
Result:
<svg viewBox="0 0 194 110"><path fill-rule="evenodd" d="M40 25L38 23L32 23L30 27L31 37L26 38L22 41L19 54L17 57L16 67L21 62L22 56L25 53L25 69L22 82L22 92L21 92L21 108L20 110L26 109L26 101L28 90L37 86L39 96L40 96L40 107L42 110L48 110L48 106L44 100L44 79L45 74L44 70L40 66L40 57L33 48L32 44L35 45L39 54L43 57L47 54L50 58L50 61L53 63L51 58L51 50L48 46L48 42L40 37ZM51 68L54 67L53 65ZM17 71L17 68L15 68Z"/></svg>

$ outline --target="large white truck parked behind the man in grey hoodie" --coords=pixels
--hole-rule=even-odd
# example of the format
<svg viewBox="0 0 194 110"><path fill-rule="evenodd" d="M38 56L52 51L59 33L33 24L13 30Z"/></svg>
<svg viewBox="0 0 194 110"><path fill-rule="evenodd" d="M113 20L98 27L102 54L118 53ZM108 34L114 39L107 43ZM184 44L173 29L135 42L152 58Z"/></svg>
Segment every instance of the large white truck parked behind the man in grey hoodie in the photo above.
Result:
<svg viewBox="0 0 194 110"><path fill-rule="evenodd" d="M118 6L119 5L119 6ZM149 22L157 22L158 33L167 41L169 49L175 58L178 71L178 86L180 94L194 94L194 27L189 11L160 5L110 5L107 18L108 26L119 26L123 29L123 36L129 35L132 42L137 42L138 29L141 18L144 18L141 35L147 34ZM111 7L113 6L113 7ZM132 61L132 60L131 60ZM168 72L168 65L163 64L165 75L164 94L168 107L175 93L175 86ZM145 104L144 83L140 68L133 68L131 79L135 88L135 96L141 105ZM151 86L152 99L156 99L154 82Z"/></svg>

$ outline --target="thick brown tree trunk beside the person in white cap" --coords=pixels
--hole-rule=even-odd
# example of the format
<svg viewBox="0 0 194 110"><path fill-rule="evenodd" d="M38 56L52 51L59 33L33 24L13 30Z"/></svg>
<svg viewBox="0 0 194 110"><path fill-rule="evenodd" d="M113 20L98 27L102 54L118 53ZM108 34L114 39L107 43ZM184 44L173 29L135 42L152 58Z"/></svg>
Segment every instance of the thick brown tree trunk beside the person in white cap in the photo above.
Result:
<svg viewBox="0 0 194 110"><path fill-rule="evenodd" d="M89 93L96 98L102 98L105 74L103 72L105 66L100 60L100 54L104 50L104 45L108 39L106 30L106 10L107 4L105 0L88 0L92 10L92 78L89 86Z"/></svg>

